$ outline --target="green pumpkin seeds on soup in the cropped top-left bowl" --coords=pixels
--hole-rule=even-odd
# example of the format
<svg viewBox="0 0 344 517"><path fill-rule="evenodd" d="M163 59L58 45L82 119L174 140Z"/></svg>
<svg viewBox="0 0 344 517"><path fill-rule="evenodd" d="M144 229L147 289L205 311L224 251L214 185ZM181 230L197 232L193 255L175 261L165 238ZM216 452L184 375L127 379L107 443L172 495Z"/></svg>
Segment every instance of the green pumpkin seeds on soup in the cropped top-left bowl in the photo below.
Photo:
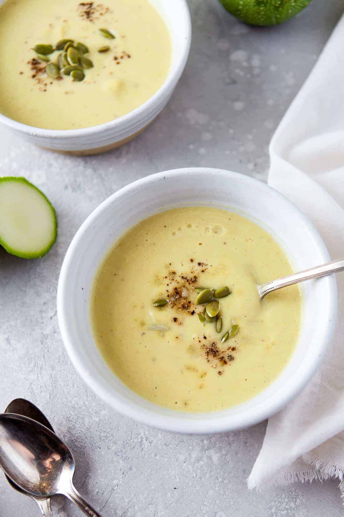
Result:
<svg viewBox="0 0 344 517"><path fill-rule="evenodd" d="M114 36L108 29L99 29L102 36L108 39L115 39ZM60 39L55 47L51 44L39 43L35 45L33 49L38 59L46 63L45 72L51 79L58 79L63 75L70 75L73 81L83 81L85 79L85 70L93 68L91 59L86 57L89 48L84 43L77 41L74 43L73 39ZM98 52L108 52L110 47L100 47ZM50 57L55 51L58 51L56 62L53 62Z"/></svg>

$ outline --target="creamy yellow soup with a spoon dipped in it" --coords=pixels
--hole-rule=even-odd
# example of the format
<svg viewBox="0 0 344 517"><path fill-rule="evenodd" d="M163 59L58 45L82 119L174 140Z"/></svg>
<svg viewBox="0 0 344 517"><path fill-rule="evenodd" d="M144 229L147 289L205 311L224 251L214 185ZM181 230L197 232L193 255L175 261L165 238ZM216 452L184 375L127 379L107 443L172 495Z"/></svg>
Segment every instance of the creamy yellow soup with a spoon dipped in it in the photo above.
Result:
<svg viewBox="0 0 344 517"><path fill-rule="evenodd" d="M281 373L296 346L298 286L262 301L256 288L291 272L277 242L245 217L208 207L162 212L126 233L101 265L95 341L113 373L156 404L186 412L240 404ZM213 321L195 303L200 287L231 291L215 298Z"/></svg>

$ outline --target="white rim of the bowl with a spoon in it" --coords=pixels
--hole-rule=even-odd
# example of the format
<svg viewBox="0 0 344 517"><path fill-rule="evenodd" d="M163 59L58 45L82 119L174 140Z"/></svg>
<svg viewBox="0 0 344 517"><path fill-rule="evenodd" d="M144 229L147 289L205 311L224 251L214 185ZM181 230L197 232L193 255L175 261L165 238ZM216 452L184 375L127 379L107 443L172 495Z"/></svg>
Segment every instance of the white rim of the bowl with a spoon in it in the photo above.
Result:
<svg viewBox="0 0 344 517"><path fill-rule="evenodd" d="M193 173L205 176L207 179L209 179L209 175L217 175L219 173L225 174L236 180L244 181L246 184L253 186L255 189L258 188L259 190L260 188L273 192L273 195L279 197L283 203L289 204L293 210L299 213L299 216L303 219L304 228L312 235L313 239L315 240L316 246L324 257L324 262L329 261L329 252L327 251L327 248L313 223L296 205L294 205L294 203L292 203L289 199L287 199L287 197L269 185L250 176L245 176L243 174L239 174L233 171L226 171L223 169L198 167L173 169L137 179L136 181L133 181L132 183L121 188L117 192L114 192L99 206L97 206L87 217L84 223L81 224L71 241L62 263L57 288L57 315L62 341L72 363L74 364L75 369L88 384L88 386L97 394L97 396L99 396L112 408L133 420L163 431L172 431L183 434L214 434L248 428L251 425L269 418L270 416L279 412L288 402L296 397L297 394L314 376L320 367L320 364L327 352L327 348L329 347L330 341L335 331L337 316L337 284L334 275L324 277L324 279L327 280L326 286L328 293L328 303L326 304L325 311L323 312L324 323L321 328L322 332L318 334L318 342L320 345L317 348L317 353L313 354L312 356L312 363L307 364L307 368L304 368L303 375L300 375L294 384L291 385L290 379L288 379L287 391L283 389L282 392L281 388L279 389L280 394L282 394L277 402L270 399L269 404L267 404L267 401L265 401L264 407L259 404L258 408L250 409L249 414L247 412L242 412L241 414L238 413L238 415L228 415L228 417L225 418L221 416L225 410L221 410L215 413L183 413L184 418L181 419L170 415L167 416L163 414L153 414L148 409L142 409L135 402L130 404L124 403L119 398L117 398L116 392L113 390L110 392L107 386L102 385L101 382L96 377L92 376L90 371L88 371L88 368L83 363L83 358L79 356L73 344L73 339L69 334L68 324L66 323L69 315L69 311L67 310L68 303L65 303L65 301L68 300L68 295L66 293L66 279L73 262L74 253L78 247L78 243L83 240L84 234L92 228L95 220L102 214L103 211L107 209L109 205L116 204L118 199L120 199L122 196L126 196L134 191L139 191L147 186L152 187L159 181L165 180L166 176L174 178L175 180L180 180L182 176L185 176L185 174ZM94 344L94 346L96 345ZM284 387L285 385L283 388ZM202 419L202 416L205 415L214 415L214 418L211 420L205 418Z"/></svg>

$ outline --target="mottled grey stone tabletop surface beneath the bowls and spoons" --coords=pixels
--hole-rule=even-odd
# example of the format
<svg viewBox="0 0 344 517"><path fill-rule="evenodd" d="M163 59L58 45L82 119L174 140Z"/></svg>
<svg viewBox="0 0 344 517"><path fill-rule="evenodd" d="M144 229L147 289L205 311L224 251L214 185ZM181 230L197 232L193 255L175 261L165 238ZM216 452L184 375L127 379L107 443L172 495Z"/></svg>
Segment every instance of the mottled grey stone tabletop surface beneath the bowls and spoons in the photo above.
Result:
<svg viewBox="0 0 344 517"><path fill-rule="evenodd" d="M249 492L266 423L236 433L182 436L114 413L76 374L61 342L56 286L79 225L141 176L185 166L266 178L268 144L338 20L337 0L313 0L280 27L250 28L216 0L189 0L190 58L167 108L139 138L102 156L37 149L0 129L0 176L24 175L56 207L59 234L41 260L0 250L0 408L37 404L76 458L75 484L104 517L339 517L337 481ZM81 515L63 497L55 517ZM0 517L35 517L35 501L0 475Z"/></svg>

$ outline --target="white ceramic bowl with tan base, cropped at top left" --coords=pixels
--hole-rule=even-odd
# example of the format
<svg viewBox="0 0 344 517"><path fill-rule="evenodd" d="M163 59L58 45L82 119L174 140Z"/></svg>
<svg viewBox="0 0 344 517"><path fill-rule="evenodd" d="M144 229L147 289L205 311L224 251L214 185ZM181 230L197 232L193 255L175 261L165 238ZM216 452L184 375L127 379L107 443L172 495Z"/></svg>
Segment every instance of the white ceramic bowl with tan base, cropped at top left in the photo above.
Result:
<svg viewBox="0 0 344 517"><path fill-rule="evenodd" d="M186 0L149 0L167 24L172 41L172 61L165 83L144 104L123 117L85 129L52 130L21 124L0 113L0 123L25 140L54 151L91 155L123 145L141 133L170 99L182 75L191 43L191 20ZM0 0L0 5L5 0Z"/></svg>

